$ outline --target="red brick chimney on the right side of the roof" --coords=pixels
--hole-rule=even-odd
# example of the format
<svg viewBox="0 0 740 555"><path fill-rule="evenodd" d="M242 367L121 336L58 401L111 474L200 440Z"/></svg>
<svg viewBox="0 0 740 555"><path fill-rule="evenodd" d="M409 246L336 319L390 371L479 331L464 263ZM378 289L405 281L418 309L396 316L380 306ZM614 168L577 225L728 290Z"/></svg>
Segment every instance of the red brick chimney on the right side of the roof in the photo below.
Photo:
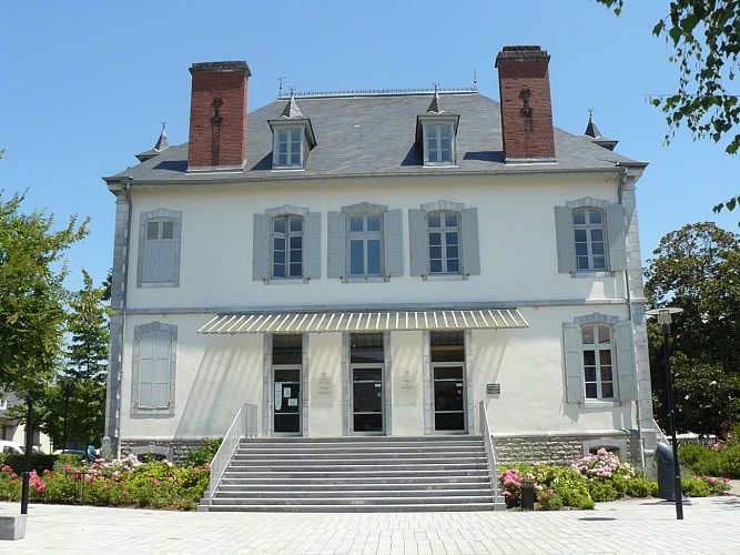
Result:
<svg viewBox="0 0 740 555"><path fill-rule="evenodd" d="M549 61L539 47L504 47L496 57L507 162L555 160Z"/></svg>

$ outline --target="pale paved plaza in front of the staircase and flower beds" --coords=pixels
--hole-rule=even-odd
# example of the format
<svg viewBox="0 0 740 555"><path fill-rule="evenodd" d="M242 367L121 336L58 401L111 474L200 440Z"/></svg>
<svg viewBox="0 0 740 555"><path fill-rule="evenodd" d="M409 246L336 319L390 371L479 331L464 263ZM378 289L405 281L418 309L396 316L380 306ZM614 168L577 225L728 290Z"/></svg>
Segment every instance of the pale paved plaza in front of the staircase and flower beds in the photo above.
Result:
<svg viewBox="0 0 740 555"><path fill-rule="evenodd" d="M19 504L0 503L0 515ZM0 553L737 554L740 497L660 500L595 511L480 513L179 513L31 505L26 537Z"/></svg>

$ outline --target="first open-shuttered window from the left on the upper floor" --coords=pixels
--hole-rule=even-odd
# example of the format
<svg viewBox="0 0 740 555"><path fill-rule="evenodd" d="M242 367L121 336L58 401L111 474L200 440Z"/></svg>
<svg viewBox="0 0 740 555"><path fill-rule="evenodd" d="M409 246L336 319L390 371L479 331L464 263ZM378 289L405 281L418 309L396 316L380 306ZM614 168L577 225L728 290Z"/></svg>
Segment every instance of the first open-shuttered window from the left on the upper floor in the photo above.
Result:
<svg viewBox="0 0 740 555"><path fill-rule="evenodd" d="M320 276L320 213L285 205L254 214L255 280L304 283Z"/></svg>

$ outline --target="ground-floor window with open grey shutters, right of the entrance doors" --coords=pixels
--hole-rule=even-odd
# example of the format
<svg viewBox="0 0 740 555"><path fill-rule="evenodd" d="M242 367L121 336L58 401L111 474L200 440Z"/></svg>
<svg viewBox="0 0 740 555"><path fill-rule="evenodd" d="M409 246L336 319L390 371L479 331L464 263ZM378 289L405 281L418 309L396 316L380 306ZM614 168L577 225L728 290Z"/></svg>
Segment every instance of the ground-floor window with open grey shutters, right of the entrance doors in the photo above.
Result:
<svg viewBox="0 0 740 555"><path fill-rule="evenodd" d="M637 400L630 321L590 314L562 332L568 403Z"/></svg>

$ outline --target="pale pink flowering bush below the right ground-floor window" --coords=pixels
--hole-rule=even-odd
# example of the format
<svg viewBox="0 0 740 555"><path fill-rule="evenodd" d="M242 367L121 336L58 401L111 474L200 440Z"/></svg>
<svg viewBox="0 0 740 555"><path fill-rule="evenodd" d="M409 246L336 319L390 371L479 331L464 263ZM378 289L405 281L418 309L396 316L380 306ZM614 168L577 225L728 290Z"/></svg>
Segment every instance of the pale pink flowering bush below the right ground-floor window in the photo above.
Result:
<svg viewBox="0 0 740 555"><path fill-rule="evenodd" d="M605 448L576 458L570 467L586 477L594 501L615 501L627 493L627 482L636 476L635 468Z"/></svg>

